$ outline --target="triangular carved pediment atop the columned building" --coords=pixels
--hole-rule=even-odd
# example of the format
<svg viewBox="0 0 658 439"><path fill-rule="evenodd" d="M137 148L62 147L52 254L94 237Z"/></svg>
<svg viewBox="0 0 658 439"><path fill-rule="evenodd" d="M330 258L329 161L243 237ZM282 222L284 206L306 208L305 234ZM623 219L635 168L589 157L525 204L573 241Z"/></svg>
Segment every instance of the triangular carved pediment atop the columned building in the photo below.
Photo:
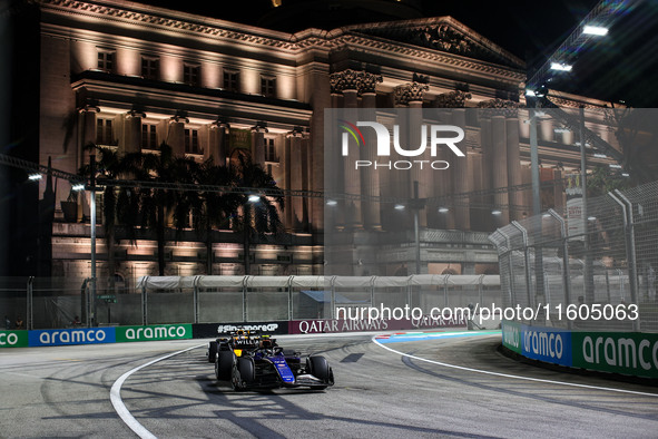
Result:
<svg viewBox="0 0 658 439"><path fill-rule="evenodd" d="M343 31L524 69L524 62L521 59L452 17L357 25L345 27Z"/></svg>

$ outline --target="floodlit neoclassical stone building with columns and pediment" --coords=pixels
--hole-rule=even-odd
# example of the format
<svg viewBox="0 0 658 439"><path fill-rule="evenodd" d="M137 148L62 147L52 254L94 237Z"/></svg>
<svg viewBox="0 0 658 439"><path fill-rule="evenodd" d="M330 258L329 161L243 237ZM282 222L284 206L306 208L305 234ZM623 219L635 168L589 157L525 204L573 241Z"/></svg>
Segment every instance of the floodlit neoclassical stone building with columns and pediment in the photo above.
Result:
<svg viewBox="0 0 658 439"><path fill-rule="evenodd" d="M249 154L287 191L281 212L286 234L254 244L252 274L323 273L325 227L344 228L350 222L354 236L395 230L389 221L392 206L372 199L343 206L350 207L350 218L325 224L325 174L334 172L324 168L332 147L324 139L326 108L367 109L383 118L389 108L448 108L450 120L465 127L467 159L434 179L411 175L395 182L396 195L410 198L420 179L419 196L429 201L420 218L421 272L495 271L487 235L530 214L531 193L523 186L530 183L524 62L453 18L286 33L124 0L24 3L9 13L33 22L26 29L39 35L31 42L39 74L32 156L76 173L88 162L82 148L88 143L153 154L167 143L176 155L199 162L229 163L236 152ZM590 98L557 97L564 108L603 106ZM478 108L491 109L489 116L472 120ZM599 123L587 120L613 143ZM540 123L542 181L576 172L577 139L551 120ZM609 160L590 155L591 164ZM360 178L371 177L347 170L337 178L334 191L363 195ZM47 179L40 185L42 197ZM367 185L365 195L377 197L377 187ZM511 188L482 195L504 187ZM561 208L563 187L557 184L549 192L547 207ZM440 197L450 194L460 196L445 205ZM88 276L88 196L78 196L77 214L65 217L60 202L69 197L69 184L57 181L52 275ZM493 218L492 206L501 211ZM109 275L102 237L100 227L99 275ZM376 255L355 244L347 274L411 274L414 256L403 245L407 237L401 240L399 248ZM243 274L240 238L216 231L214 241L213 274ZM131 243L119 234L115 248L116 275L157 272L157 246L148 236ZM166 257L169 274L207 272L204 245L191 232L171 237Z"/></svg>

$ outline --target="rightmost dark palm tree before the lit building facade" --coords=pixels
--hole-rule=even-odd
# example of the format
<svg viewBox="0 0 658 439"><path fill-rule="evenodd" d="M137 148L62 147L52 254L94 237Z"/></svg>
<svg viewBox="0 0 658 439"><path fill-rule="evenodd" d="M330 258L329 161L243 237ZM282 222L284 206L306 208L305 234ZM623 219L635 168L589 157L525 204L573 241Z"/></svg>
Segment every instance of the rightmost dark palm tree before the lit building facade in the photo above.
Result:
<svg viewBox="0 0 658 439"><path fill-rule="evenodd" d="M253 163L248 156L239 155L238 158L237 185L248 191L239 197L242 215L238 214L237 228L242 228L243 232L245 274L249 274L249 251L254 235L263 238L265 234L277 234L283 230L278 208L284 208L284 196L283 191L263 166ZM262 193L265 195L259 195ZM258 198L249 199L252 196Z"/></svg>

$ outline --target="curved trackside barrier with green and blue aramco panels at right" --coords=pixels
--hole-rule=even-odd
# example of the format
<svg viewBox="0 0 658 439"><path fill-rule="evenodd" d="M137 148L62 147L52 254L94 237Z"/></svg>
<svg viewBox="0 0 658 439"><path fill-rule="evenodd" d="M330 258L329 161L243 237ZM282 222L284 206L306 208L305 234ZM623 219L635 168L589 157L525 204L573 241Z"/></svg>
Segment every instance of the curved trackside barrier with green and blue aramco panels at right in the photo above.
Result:
<svg viewBox="0 0 658 439"><path fill-rule="evenodd" d="M505 321L502 343L523 357L549 363L658 378L658 334L570 332Z"/></svg>

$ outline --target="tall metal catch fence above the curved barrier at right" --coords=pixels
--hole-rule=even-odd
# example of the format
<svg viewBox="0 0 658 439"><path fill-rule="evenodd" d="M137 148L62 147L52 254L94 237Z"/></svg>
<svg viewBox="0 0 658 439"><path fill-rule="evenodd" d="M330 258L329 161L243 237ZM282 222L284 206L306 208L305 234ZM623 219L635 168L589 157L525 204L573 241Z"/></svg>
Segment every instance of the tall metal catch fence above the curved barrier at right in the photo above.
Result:
<svg viewBox="0 0 658 439"><path fill-rule="evenodd" d="M658 332L658 182L568 201L497 230L511 320L574 330ZM530 311L531 310L531 311Z"/></svg>

